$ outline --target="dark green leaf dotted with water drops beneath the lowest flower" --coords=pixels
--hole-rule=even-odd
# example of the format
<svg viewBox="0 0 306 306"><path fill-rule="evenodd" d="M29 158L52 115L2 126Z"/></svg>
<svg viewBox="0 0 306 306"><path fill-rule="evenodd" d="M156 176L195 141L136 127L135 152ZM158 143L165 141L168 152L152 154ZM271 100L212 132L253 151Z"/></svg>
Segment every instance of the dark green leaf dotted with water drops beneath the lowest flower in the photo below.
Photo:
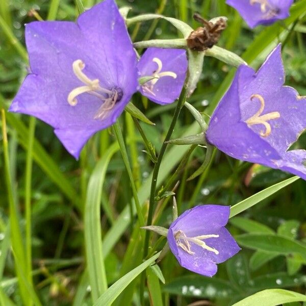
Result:
<svg viewBox="0 0 306 306"><path fill-rule="evenodd" d="M163 291L171 294L201 297L228 298L237 294L231 283L219 278L208 278L200 275L188 275L175 278L163 287Z"/></svg>

